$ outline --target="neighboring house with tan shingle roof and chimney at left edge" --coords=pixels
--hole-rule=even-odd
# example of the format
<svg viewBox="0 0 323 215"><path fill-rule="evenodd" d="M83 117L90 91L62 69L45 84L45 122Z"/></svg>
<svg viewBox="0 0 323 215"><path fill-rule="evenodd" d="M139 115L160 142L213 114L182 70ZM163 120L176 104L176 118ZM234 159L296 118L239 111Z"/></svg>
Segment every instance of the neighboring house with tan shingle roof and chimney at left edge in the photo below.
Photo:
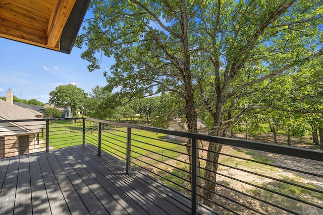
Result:
<svg viewBox="0 0 323 215"><path fill-rule="evenodd" d="M36 152L41 147L45 122L1 123L1 120L37 119L39 114L15 105L11 91L7 92L6 99L0 99L0 158Z"/></svg>

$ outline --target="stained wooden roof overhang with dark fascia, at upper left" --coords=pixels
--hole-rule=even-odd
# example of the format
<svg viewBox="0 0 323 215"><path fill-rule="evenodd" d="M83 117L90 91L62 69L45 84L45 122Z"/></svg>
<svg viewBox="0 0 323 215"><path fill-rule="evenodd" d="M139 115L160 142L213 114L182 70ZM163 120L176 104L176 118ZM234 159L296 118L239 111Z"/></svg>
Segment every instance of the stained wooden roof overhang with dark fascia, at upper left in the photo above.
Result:
<svg viewBox="0 0 323 215"><path fill-rule="evenodd" d="M90 0L2 0L0 37L71 53Z"/></svg>

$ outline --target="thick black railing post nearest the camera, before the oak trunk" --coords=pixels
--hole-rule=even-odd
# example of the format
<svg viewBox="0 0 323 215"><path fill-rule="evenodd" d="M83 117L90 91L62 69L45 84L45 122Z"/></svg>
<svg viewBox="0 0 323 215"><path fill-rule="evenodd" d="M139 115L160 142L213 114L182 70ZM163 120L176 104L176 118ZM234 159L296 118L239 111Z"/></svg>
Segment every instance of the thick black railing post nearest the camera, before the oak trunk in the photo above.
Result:
<svg viewBox="0 0 323 215"><path fill-rule="evenodd" d="M197 214L197 139L192 138L192 210L191 214Z"/></svg>

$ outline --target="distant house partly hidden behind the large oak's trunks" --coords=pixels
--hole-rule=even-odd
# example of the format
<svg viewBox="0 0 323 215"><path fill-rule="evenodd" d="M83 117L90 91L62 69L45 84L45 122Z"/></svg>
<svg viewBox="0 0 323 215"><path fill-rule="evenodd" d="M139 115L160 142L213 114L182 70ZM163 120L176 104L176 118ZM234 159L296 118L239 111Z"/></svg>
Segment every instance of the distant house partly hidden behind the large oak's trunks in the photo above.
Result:
<svg viewBox="0 0 323 215"><path fill-rule="evenodd" d="M182 122L182 120L179 119L179 118L174 119L173 121L171 121L168 129L169 130L177 130L177 131L186 131L186 132L188 132L188 128L187 128L186 123ZM203 132L205 132L205 129L206 129L205 123L200 118L197 118L197 130L198 130L198 132L203 133ZM167 134L166 137L171 138L171 139L177 139L177 140L180 140L180 141L187 141L186 137L181 137L181 136L175 136L175 135Z"/></svg>

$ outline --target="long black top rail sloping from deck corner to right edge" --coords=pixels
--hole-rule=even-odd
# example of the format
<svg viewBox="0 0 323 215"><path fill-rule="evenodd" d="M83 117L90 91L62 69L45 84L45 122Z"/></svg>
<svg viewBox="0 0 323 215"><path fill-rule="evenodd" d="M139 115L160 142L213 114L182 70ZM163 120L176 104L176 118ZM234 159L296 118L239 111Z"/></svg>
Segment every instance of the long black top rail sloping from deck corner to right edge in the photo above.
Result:
<svg viewBox="0 0 323 215"><path fill-rule="evenodd" d="M234 147L242 147L246 149L252 150L259 150L269 153L287 155L287 156L294 156L298 158L305 158L310 160L316 161L323 161L323 152L318 150L311 150L311 149L304 149L304 148L297 148L297 147L289 147L289 146L281 146L281 145L273 145L267 144L265 142L257 142L251 140L243 140L243 139L234 139L229 137L220 137L220 136L211 136L207 134L200 134L200 133L189 133L184 131L175 131L175 130L168 130L163 128L154 128L154 127L147 127L141 125L134 125L134 124L127 124L122 122L111 122L106 120L100 119L93 119L93 118L85 118L87 120L102 122L106 124L118 125L123 127L131 127L140 130L152 131L157 133L164 133L176 136L182 136L192 139L199 139L204 141L210 142L218 142L219 144L224 144L228 146Z"/></svg>

